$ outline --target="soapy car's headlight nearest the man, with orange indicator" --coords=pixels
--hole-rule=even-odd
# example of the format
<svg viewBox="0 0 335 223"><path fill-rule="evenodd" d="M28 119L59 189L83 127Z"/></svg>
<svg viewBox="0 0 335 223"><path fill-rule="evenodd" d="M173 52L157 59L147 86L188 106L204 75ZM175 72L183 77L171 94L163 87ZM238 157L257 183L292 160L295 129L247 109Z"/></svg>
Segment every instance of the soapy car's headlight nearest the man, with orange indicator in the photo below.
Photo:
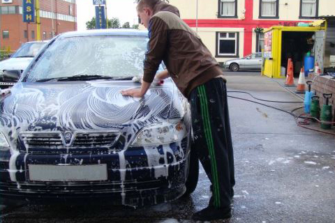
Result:
<svg viewBox="0 0 335 223"><path fill-rule="evenodd" d="M136 136L131 146L157 146L179 141L186 136L187 130L183 121L170 119L154 123L143 128Z"/></svg>

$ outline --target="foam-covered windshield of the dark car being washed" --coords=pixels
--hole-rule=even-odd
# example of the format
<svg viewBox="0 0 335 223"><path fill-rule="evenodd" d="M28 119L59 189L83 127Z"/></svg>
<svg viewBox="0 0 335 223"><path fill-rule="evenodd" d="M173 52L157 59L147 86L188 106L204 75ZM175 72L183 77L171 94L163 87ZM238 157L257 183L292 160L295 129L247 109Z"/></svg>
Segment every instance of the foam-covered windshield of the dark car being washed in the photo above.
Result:
<svg viewBox="0 0 335 223"><path fill-rule="evenodd" d="M26 80L140 76L148 40L145 36L60 38L43 52ZM161 66L160 70L163 70Z"/></svg>

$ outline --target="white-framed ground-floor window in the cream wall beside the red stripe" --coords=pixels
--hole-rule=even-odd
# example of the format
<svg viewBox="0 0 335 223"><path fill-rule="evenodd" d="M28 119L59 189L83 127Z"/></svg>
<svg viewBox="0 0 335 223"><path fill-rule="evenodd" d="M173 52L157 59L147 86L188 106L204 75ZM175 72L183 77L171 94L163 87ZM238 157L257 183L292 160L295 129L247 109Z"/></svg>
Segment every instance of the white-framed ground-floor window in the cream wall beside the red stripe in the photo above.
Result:
<svg viewBox="0 0 335 223"><path fill-rule="evenodd" d="M216 57L239 57L239 33L216 32Z"/></svg>

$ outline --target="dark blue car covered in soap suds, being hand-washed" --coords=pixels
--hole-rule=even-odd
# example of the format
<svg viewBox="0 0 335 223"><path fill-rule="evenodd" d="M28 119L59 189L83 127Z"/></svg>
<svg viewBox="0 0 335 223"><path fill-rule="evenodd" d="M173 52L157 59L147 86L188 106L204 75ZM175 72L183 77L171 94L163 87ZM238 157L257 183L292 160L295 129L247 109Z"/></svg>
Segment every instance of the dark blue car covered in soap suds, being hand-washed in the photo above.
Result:
<svg viewBox="0 0 335 223"><path fill-rule="evenodd" d="M140 87L147 41L69 32L34 58L0 100L0 201L143 206L195 190L186 98L171 79L143 98L120 93Z"/></svg>

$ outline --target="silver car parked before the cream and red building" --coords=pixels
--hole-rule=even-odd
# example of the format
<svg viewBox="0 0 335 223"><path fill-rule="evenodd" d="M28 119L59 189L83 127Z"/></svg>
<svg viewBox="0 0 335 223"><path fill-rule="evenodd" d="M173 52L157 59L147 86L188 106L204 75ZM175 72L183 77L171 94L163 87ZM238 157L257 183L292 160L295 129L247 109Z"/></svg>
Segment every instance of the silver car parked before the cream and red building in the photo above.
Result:
<svg viewBox="0 0 335 223"><path fill-rule="evenodd" d="M225 61L224 68L231 71L261 70L262 53L249 54L243 58Z"/></svg>

